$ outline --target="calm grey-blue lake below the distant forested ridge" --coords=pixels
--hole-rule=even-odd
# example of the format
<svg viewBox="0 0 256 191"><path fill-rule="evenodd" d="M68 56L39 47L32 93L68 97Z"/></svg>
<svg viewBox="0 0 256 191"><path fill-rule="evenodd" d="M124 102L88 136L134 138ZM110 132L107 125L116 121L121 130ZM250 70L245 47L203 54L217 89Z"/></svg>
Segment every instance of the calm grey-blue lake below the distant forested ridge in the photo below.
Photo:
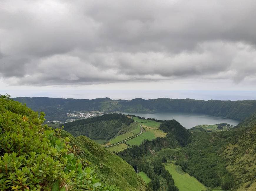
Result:
<svg viewBox="0 0 256 191"><path fill-rule="evenodd" d="M190 114L190 113L127 113L122 114L133 114L145 118L155 118L158 120L177 120L183 127L190 129L196 125L214 125L217 123L228 123L236 126L239 121L232 120L226 117L204 115L204 114Z"/></svg>

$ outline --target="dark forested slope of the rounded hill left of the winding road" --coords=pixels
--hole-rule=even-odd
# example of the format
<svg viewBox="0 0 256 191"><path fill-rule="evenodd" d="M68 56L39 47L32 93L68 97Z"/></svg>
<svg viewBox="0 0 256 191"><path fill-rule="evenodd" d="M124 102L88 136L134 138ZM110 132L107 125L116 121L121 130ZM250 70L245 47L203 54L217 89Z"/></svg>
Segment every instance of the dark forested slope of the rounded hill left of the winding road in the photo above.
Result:
<svg viewBox="0 0 256 191"><path fill-rule="evenodd" d="M121 133L125 133L125 129L132 122L133 120L125 115L110 113L99 117L65 123L63 125L64 130L75 137L84 135L90 139L109 140Z"/></svg>

